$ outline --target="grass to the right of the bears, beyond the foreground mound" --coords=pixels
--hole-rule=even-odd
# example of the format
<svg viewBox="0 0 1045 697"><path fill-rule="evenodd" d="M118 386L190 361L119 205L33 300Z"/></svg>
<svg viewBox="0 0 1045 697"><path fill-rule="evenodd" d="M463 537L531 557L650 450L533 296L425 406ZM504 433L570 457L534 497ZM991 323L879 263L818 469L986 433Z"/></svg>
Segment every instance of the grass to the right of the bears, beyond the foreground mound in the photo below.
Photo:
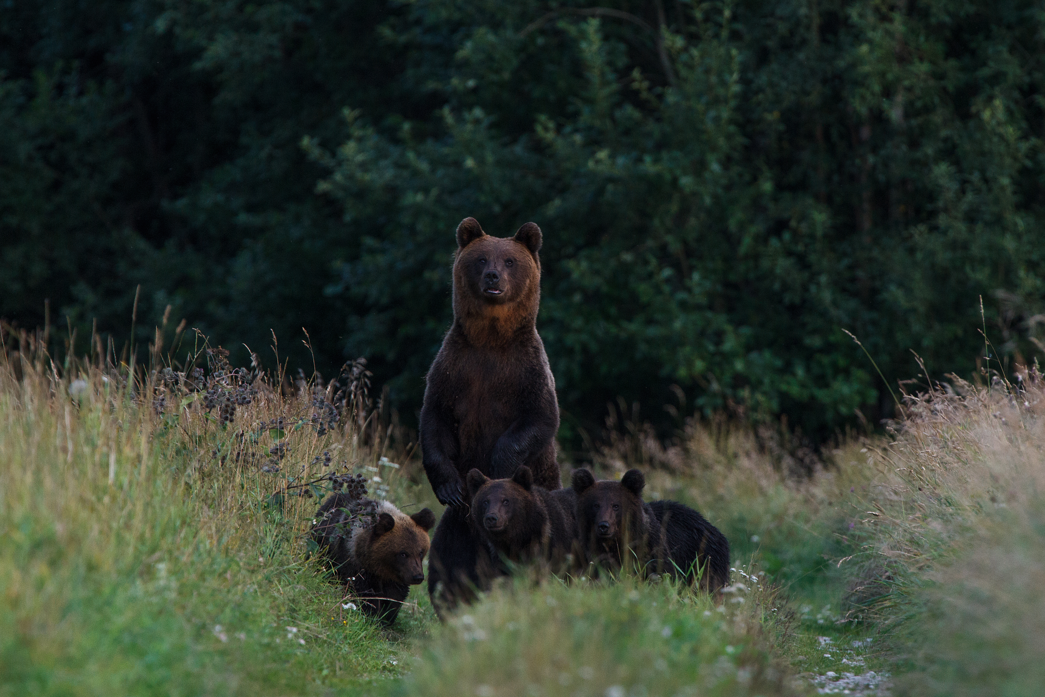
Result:
<svg viewBox="0 0 1045 697"><path fill-rule="evenodd" d="M622 428L594 459L607 473L652 467L649 495L699 508L735 560L780 584L796 623L774 650L795 668L873 665L899 694L1032 695L1045 683L1043 416L1035 370L1015 385L952 376L908 395L887 436L845 439L808 469L726 420L691 422L668 446ZM837 650L854 641L870 648Z"/></svg>

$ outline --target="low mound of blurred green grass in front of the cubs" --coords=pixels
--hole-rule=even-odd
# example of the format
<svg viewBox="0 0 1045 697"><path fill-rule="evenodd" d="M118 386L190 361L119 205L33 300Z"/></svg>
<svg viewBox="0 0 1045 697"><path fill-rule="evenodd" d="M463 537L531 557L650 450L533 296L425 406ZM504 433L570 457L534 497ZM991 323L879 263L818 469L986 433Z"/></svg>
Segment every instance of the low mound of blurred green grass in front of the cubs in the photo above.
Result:
<svg viewBox="0 0 1045 697"><path fill-rule="evenodd" d="M668 581L505 584L434 631L399 694L796 694L751 585L716 605Z"/></svg>

